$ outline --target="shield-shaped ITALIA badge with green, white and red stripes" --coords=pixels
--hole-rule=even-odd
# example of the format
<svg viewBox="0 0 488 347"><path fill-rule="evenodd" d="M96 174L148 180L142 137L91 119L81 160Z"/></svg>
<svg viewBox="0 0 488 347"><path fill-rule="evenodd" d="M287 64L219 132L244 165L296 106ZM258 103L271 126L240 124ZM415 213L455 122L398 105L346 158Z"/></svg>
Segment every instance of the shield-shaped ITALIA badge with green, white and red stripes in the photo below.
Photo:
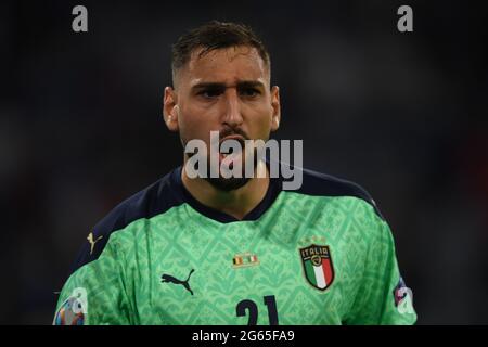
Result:
<svg viewBox="0 0 488 347"><path fill-rule="evenodd" d="M334 281L334 268L329 246L312 244L300 248L300 256L308 282L320 291L330 287Z"/></svg>

